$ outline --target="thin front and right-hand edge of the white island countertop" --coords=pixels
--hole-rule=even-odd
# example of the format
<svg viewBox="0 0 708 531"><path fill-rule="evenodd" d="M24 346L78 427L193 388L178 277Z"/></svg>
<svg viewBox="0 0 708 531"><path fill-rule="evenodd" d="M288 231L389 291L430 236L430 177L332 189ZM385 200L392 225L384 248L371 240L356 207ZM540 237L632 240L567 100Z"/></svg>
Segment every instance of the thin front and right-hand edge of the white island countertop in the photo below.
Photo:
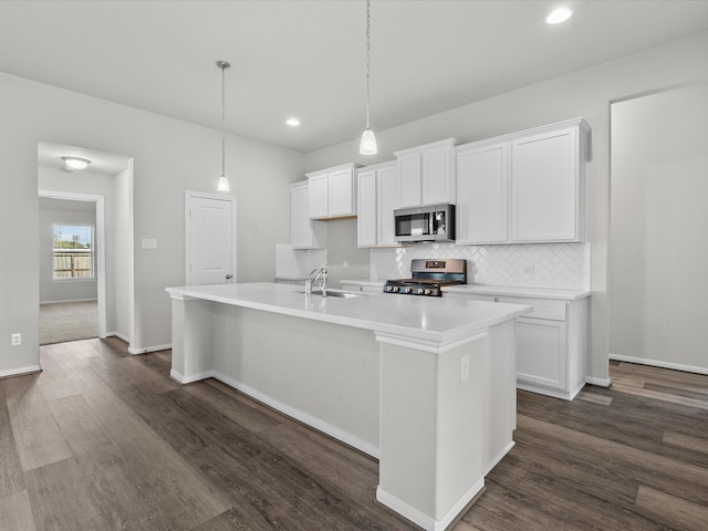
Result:
<svg viewBox="0 0 708 531"><path fill-rule="evenodd" d="M281 284L288 285L288 284ZM302 319L310 319L313 321L322 321L325 323L332 324L341 324L344 326L352 326L357 329L371 330L376 334L382 334L385 336L397 336L405 337L408 341L413 341L419 344L423 350L428 352L441 352L440 348L445 348L445 346L449 343L459 341L461 339L479 334L485 332L486 330L501 324L511 319L516 319L518 316L524 315L533 310L532 306L527 306L522 304L503 304L508 306L503 314L497 314L496 316L490 316L486 319L477 319L475 322L465 324L461 326L456 326L454 329L447 331L431 331L424 329L416 329L412 326L400 326L397 324L382 323L378 321L368 321L366 319L361 317L352 317L347 315L336 315L332 313L320 313L310 310L300 310L295 308L290 308L287 305L278 305L272 303L261 303L256 301L250 301L246 299L237 299L233 296L219 295L215 293L204 293L198 291L199 287L195 287L195 289L190 287L181 287L181 288L166 288L165 291L169 293L173 299L177 300L206 300L212 302L219 302L222 304L230 304L235 306L249 308L252 310L261 310L271 313L278 313L281 315L290 315ZM303 295L304 296L304 295ZM320 298L320 295L312 295ZM387 295L387 296L397 296L397 295ZM486 304L486 303L482 303ZM500 309L500 303L494 303L496 309ZM498 312L494 312L498 313Z"/></svg>

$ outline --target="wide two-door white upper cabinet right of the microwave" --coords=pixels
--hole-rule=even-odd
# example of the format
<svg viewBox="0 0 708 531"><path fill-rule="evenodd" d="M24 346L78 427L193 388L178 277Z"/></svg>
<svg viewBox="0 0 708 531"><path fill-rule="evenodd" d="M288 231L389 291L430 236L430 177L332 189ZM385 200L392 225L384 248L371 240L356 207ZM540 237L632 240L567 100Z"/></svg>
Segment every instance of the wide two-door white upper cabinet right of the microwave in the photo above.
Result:
<svg viewBox="0 0 708 531"><path fill-rule="evenodd" d="M585 239L582 119L457 148L457 243Z"/></svg>

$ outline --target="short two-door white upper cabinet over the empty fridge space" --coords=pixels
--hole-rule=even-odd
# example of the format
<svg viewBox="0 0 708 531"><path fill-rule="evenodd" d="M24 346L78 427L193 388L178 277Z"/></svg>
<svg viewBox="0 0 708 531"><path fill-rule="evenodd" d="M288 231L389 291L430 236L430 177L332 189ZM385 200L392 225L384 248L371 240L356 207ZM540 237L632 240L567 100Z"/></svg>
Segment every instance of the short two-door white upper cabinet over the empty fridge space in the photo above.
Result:
<svg viewBox="0 0 708 531"><path fill-rule="evenodd" d="M310 217L313 219L356 216L356 164L306 174L310 194Z"/></svg>

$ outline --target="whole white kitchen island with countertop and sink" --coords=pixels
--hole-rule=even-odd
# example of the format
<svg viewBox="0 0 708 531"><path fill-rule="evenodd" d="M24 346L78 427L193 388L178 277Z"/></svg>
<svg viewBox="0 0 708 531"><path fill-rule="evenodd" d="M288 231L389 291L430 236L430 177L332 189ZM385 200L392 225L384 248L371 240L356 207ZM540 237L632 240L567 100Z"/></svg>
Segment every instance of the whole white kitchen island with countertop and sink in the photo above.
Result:
<svg viewBox="0 0 708 531"><path fill-rule="evenodd" d="M173 369L216 377L379 459L376 499L429 530L513 446L516 317L530 306L275 283L168 288Z"/></svg>

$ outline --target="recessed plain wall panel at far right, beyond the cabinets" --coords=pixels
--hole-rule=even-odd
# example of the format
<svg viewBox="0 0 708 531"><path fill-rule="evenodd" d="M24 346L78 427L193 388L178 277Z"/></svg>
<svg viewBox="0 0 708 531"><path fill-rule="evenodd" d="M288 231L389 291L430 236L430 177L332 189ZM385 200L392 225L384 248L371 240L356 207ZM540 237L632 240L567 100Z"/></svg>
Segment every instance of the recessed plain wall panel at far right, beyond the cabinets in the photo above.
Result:
<svg viewBox="0 0 708 531"><path fill-rule="evenodd" d="M708 374L706 124L706 83L612 105L612 357Z"/></svg>

